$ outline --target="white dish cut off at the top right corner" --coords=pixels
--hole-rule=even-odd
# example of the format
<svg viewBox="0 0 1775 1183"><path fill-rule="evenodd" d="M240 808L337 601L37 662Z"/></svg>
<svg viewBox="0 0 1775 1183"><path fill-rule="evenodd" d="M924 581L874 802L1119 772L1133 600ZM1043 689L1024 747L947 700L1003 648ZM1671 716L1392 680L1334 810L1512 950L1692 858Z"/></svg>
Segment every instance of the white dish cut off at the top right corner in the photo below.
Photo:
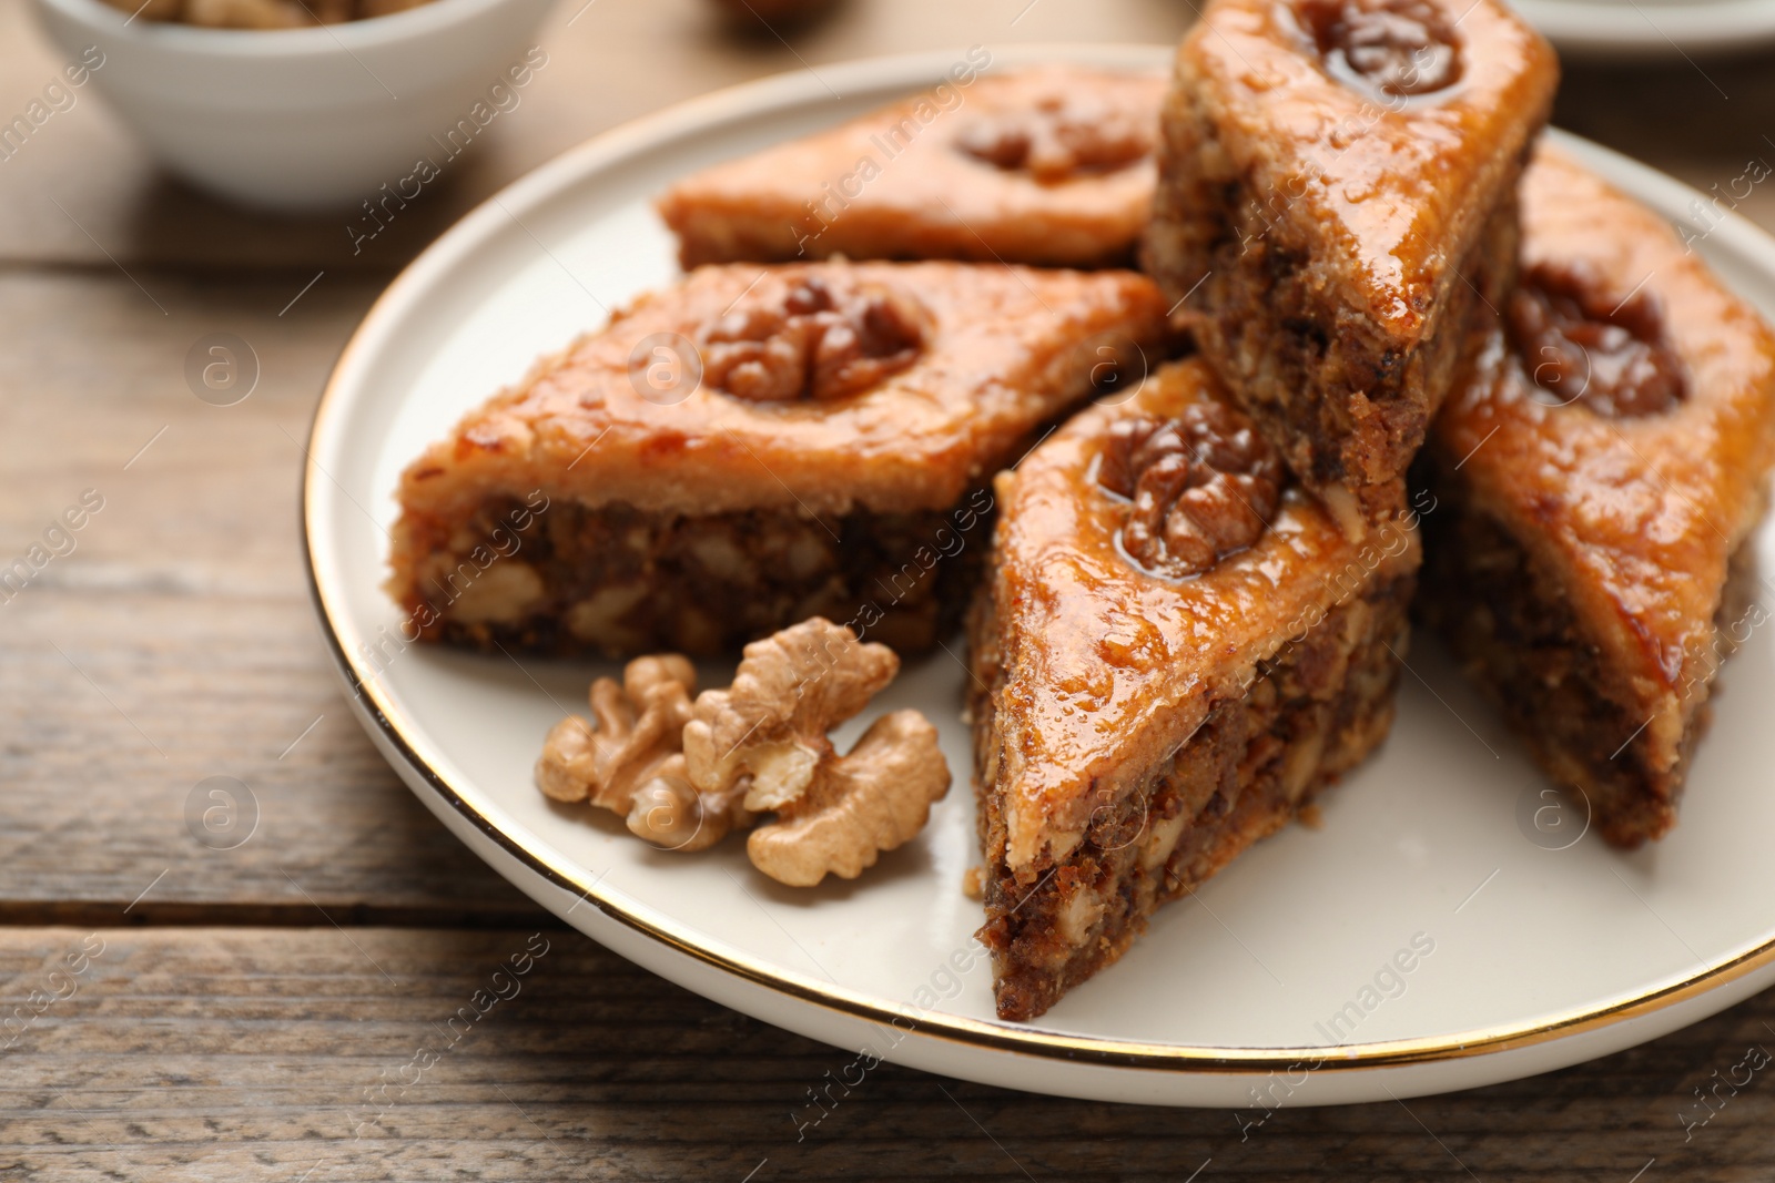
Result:
<svg viewBox="0 0 1775 1183"><path fill-rule="evenodd" d="M1511 0L1566 57L1741 53L1775 41L1775 0Z"/></svg>

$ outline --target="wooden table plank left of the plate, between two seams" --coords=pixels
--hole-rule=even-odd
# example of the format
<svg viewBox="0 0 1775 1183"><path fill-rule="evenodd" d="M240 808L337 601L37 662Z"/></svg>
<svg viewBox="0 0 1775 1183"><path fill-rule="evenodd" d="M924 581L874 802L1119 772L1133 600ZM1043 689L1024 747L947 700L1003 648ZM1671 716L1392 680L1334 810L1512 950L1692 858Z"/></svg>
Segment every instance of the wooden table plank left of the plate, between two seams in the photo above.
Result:
<svg viewBox="0 0 1775 1183"><path fill-rule="evenodd" d="M371 748L316 631L296 520L314 397L378 284L0 273L0 921L527 922ZM162 312L165 309L165 314ZM211 406L185 353L233 332L259 387ZM146 449L146 450L144 450ZM41 553L41 552L39 552ZM257 800L206 846L208 777ZM202 827L199 825L199 830ZM208 912L193 912L197 906ZM220 908L220 910L217 910Z"/></svg>

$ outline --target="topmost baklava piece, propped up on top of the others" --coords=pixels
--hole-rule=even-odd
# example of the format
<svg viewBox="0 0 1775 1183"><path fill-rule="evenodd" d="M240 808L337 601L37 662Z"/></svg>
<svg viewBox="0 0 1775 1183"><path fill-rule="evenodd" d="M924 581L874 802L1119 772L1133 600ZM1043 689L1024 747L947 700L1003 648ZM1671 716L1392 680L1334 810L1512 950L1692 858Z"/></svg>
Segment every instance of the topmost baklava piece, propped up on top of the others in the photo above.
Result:
<svg viewBox="0 0 1775 1183"><path fill-rule="evenodd" d="M1179 46L1147 268L1349 530L1512 284L1555 74L1500 0L1216 0Z"/></svg>

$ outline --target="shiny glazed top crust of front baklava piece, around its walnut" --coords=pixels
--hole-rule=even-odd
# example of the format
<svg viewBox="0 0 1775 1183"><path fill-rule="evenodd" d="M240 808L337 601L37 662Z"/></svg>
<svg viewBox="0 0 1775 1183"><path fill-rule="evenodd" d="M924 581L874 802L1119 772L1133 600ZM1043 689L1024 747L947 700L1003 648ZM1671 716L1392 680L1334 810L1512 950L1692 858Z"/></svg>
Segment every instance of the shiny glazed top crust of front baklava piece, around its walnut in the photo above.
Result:
<svg viewBox="0 0 1775 1183"><path fill-rule="evenodd" d="M994 718L1014 871L1063 857L1090 807L1175 750L1214 701L1242 697L1257 662L1376 578L1418 562L1413 525L1349 541L1289 486L1257 543L1203 575L1166 580L1134 564L1116 537L1127 502L1095 475L1109 426L1221 397L1207 365L1175 362L1122 404L1077 415L998 479L989 594L1005 670Z"/></svg>

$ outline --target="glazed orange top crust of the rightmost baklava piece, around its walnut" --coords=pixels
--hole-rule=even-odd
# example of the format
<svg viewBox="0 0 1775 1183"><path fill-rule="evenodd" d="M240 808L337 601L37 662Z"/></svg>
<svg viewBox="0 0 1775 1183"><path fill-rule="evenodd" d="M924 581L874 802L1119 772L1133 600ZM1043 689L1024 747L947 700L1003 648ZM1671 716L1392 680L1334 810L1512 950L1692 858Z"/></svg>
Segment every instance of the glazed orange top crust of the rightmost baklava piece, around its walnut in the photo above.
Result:
<svg viewBox="0 0 1775 1183"><path fill-rule="evenodd" d="M1706 697L1688 692L1706 686L1718 660L1727 559L1763 514L1775 335L1670 225L1557 151L1537 151L1521 202L1525 270L1576 270L1601 287L1603 305L1653 300L1686 396L1651 415L1599 415L1576 390L1537 388L1534 374L1548 367L1495 335L1429 447L1445 472L1459 463L1473 507L1555 573L1605 669L1644 702L1670 766Z"/></svg>

